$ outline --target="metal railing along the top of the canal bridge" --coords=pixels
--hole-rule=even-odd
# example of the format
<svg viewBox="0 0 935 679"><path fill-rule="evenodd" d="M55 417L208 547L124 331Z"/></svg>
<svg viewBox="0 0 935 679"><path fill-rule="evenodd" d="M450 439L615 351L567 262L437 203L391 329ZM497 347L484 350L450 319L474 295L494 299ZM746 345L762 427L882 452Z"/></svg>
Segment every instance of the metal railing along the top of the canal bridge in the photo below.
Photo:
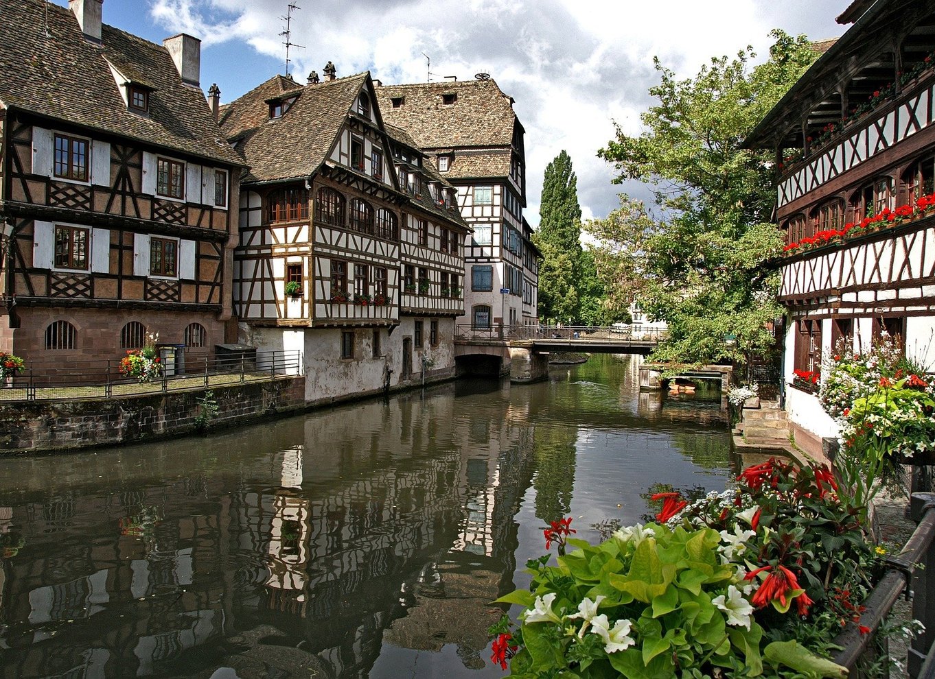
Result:
<svg viewBox="0 0 935 679"><path fill-rule="evenodd" d="M611 325L520 325L496 323L489 326L459 323L454 328L458 340L536 340L560 339L597 342L658 342L668 331L659 328L643 329L639 324Z"/></svg>

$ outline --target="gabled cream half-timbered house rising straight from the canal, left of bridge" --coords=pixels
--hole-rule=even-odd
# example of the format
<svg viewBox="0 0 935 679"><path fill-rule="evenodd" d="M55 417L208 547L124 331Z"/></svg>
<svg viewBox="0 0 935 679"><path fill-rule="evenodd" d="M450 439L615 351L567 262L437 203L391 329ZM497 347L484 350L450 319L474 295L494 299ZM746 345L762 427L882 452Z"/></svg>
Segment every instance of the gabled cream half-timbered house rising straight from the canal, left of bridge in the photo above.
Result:
<svg viewBox="0 0 935 679"><path fill-rule="evenodd" d="M250 165L234 274L241 336L302 351L309 402L421 376L436 362L439 318L463 308L450 285L441 295L441 274L463 276L464 265L460 248L442 256L436 241L454 232L459 244L468 231L436 205L446 187L425 176L421 153L397 150L369 75L335 71L329 63L324 80L312 74L305 85L270 78L221 116ZM417 278L406 278L410 269ZM424 314L421 332L417 322L395 332L401 309ZM436 373L453 373L447 363Z"/></svg>

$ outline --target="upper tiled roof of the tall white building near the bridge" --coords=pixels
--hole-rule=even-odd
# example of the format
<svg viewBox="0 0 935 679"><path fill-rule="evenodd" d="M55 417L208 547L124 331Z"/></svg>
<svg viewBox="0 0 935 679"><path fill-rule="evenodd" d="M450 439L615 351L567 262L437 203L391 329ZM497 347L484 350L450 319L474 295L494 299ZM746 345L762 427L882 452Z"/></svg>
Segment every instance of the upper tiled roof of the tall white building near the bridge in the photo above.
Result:
<svg viewBox="0 0 935 679"><path fill-rule="evenodd" d="M403 128L423 149L509 147L519 124L512 99L494 80L382 85L376 88L383 120ZM444 104L443 96L454 102ZM393 99L403 98L393 107Z"/></svg>

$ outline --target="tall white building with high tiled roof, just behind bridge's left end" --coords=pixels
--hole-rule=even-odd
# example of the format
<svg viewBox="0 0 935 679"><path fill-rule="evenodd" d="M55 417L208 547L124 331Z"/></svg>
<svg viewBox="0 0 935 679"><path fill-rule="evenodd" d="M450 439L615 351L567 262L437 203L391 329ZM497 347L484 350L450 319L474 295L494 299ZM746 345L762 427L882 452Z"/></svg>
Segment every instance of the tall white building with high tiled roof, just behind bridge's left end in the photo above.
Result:
<svg viewBox="0 0 935 679"><path fill-rule="evenodd" d="M536 323L538 253L523 219L523 125L489 77L377 88L385 119L409 133L457 189L472 234L465 311L478 328Z"/></svg>

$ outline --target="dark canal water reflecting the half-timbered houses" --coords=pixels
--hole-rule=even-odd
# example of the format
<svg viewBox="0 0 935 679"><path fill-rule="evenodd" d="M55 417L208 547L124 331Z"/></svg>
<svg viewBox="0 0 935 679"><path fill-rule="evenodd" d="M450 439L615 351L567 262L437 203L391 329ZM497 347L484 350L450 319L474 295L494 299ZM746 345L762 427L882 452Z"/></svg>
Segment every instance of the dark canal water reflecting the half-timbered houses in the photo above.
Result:
<svg viewBox="0 0 935 679"><path fill-rule="evenodd" d="M637 357L237 431L0 460L0 677L500 677L490 601L546 521L723 489L719 396Z"/></svg>

